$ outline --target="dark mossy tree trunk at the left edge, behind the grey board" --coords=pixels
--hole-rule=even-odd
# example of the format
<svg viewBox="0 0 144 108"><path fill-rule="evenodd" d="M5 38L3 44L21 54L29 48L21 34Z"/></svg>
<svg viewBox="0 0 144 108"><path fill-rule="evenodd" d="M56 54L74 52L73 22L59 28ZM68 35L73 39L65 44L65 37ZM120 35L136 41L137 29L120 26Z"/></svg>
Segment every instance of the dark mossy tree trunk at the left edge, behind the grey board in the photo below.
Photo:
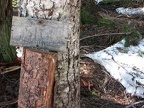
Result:
<svg viewBox="0 0 144 108"><path fill-rule="evenodd" d="M9 45L12 18L12 0L0 0L0 61L16 57L15 48Z"/></svg>

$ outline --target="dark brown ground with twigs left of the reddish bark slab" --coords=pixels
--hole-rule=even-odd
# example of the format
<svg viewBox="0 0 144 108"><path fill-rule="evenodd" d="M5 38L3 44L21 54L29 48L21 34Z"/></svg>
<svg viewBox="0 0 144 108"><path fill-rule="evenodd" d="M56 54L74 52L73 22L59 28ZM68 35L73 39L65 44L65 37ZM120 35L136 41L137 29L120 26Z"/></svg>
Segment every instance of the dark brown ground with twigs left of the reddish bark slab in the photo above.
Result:
<svg viewBox="0 0 144 108"><path fill-rule="evenodd" d="M20 62L0 63L0 108L17 108Z"/></svg>

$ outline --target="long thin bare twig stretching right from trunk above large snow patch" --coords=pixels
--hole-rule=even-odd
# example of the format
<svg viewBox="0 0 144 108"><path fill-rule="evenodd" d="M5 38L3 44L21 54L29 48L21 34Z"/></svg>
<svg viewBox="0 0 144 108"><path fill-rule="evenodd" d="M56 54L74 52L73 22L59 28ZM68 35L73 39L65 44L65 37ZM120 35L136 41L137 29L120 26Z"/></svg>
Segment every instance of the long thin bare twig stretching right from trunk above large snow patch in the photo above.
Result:
<svg viewBox="0 0 144 108"><path fill-rule="evenodd" d="M80 41L84 40L84 39L88 39L88 38L92 38L92 37L101 37L101 36L108 36L108 35L129 35L131 34L131 32L127 32L127 33L106 33L106 34L95 34L92 36L87 36L87 37L83 37L80 39Z"/></svg>

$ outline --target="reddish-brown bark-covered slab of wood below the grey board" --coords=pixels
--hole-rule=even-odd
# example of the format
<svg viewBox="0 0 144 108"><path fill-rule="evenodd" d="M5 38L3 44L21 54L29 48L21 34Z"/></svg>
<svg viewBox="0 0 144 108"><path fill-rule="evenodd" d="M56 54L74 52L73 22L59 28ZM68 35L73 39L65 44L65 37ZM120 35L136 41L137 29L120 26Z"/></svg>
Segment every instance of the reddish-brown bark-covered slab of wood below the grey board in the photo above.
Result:
<svg viewBox="0 0 144 108"><path fill-rule="evenodd" d="M51 108L55 53L24 51L22 60L19 108Z"/></svg>

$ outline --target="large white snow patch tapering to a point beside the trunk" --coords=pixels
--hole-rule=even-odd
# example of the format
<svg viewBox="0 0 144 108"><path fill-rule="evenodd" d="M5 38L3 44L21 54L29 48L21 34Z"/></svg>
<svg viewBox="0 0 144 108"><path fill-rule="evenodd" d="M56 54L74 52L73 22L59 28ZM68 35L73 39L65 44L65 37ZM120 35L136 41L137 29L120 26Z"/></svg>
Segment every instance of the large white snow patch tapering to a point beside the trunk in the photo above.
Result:
<svg viewBox="0 0 144 108"><path fill-rule="evenodd" d="M103 65L127 93L144 98L144 39L137 46L124 47L124 42L85 56Z"/></svg>

